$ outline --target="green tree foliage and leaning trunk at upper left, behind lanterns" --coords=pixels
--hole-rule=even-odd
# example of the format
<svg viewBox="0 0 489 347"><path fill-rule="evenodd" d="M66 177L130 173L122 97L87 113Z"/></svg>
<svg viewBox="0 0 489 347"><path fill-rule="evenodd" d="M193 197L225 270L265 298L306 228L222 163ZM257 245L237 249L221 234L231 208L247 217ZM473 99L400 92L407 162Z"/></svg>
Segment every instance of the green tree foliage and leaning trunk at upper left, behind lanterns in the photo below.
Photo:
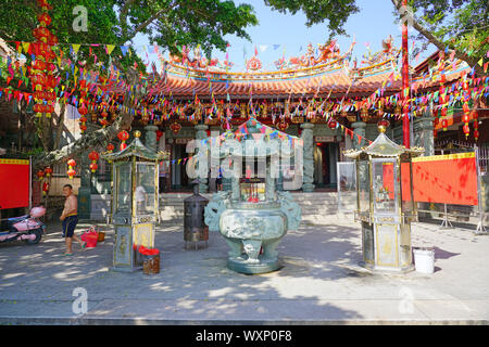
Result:
<svg viewBox="0 0 489 347"><path fill-rule="evenodd" d="M51 31L58 37L55 47L58 56L64 56L71 64L57 66L57 74L65 80L65 72L75 66L88 69L108 68L114 64L122 73L127 85L135 86L146 66L130 47L129 54L121 46L131 46L138 34L146 35L150 43L158 43L172 54L179 54L183 46L189 48L200 44L208 55L216 48L225 50L226 35L236 35L249 39L246 28L256 25L254 10L249 4L235 4L220 0L49 0L52 10ZM86 30L74 26L79 13L86 10ZM34 42L33 29L38 25L37 14L41 12L34 0L3 0L0 7L0 37L14 50L16 41ZM72 44L82 44L78 52L72 52ZM88 44L90 43L90 46ZM99 43L100 46L91 46ZM114 51L108 55L105 44L113 44ZM26 54L27 63L30 56ZM136 63L136 64L135 64ZM5 72L5 69L2 69ZM71 74L70 78L74 78ZM1 78L0 78L1 79ZM0 83L4 86L3 78ZM16 83L15 83L16 86ZM137 103L141 95L131 95ZM129 98L125 98L126 101ZM43 153L37 157L38 165L51 165L70 155L77 155L90 146L105 145L122 127L130 125L133 115L123 113L106 129L86 134L78 141L58 147L60 127L63 126L64 107L60 114L38 120L38 134L43 144ZM53 119L54 118L54 119ZM57 120L57 124L54 124ZM57 133L52 139L53 133Z"/></svg>

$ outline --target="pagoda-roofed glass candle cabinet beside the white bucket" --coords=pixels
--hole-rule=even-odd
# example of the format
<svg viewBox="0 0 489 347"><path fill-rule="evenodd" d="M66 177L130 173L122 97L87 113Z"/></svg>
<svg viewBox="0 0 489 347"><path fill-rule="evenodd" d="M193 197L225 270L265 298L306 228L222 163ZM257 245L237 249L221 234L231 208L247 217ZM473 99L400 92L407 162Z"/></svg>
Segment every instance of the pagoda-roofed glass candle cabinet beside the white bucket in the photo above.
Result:
<svg viewBox="0 0 489 347"><path fill-rule="evenodd" d="M411 222L417 220L413 202L412 158L424 149L392 142L380 134L367 147L344 154L356 160L355 220L362 223L363 266L373 271L414 269Z"/></svg>

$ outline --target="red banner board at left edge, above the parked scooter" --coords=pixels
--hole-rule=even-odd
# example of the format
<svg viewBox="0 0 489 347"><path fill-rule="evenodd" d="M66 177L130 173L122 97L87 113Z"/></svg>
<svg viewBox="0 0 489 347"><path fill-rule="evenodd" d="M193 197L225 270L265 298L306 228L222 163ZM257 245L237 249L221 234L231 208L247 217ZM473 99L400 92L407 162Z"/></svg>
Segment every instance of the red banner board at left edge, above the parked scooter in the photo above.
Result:
<svg viewBox="0 0 489 347"><path fill-rule="evenodd" d="M29 206L29 160L0 159L0 209Z"/></svg>

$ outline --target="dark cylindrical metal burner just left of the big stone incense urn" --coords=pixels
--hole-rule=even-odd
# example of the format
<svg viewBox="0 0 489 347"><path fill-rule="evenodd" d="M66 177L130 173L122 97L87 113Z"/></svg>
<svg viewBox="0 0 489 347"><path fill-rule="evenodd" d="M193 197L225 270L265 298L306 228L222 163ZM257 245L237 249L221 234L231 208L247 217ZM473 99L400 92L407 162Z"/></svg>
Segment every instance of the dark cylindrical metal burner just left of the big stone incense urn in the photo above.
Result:
<svg viewBox="0 0 489 347"><path fill-rule="evenodd" d="M205 241L205 246L208 245L209 227L204 222L204 209L209 200L199 194L199 181L193 183L193 195L184 201L184 241L185 248L193 243L197 249L201 241Z"/></svg>

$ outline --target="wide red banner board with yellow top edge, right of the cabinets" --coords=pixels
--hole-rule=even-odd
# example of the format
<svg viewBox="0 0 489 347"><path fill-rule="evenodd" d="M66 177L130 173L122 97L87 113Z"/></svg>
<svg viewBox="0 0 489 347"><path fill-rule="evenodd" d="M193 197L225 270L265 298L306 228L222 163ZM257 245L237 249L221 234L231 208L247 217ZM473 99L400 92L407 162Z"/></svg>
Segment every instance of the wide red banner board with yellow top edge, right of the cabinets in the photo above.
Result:
<svg viewBox="0 0 489 347"><path fill-rule="evenodd" d="M404 177L402 179L403 185L408 183ZM475 153L414 158L413 194L414 201L421 203L477 205Z"/></svg>

